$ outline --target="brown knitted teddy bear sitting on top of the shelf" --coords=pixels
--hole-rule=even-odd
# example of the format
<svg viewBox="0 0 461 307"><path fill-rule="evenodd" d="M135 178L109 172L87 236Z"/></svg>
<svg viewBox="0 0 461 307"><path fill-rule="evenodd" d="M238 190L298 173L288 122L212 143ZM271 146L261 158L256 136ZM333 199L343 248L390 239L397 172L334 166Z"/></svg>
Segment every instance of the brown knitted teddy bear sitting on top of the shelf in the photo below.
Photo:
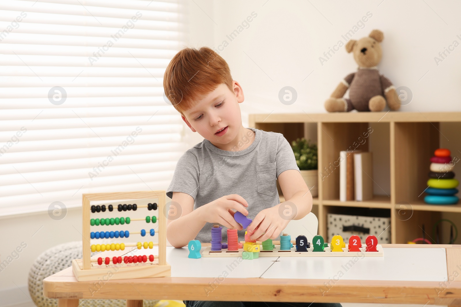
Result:
<svg viewBox="0 0 461 307"><path fill-rule="evenodd" d="M400 108L396 88L376 68L383 56L380 44L383 39L383 32L372 30L368 37L347 42L346 51L353 52L359 67L355 73L347 75L331 93L331 98L325 101L328 112L349 112L354 109L379 112L384 110L386 101L390 110ZM349 98L343 98L348 88Z"/></svg>

